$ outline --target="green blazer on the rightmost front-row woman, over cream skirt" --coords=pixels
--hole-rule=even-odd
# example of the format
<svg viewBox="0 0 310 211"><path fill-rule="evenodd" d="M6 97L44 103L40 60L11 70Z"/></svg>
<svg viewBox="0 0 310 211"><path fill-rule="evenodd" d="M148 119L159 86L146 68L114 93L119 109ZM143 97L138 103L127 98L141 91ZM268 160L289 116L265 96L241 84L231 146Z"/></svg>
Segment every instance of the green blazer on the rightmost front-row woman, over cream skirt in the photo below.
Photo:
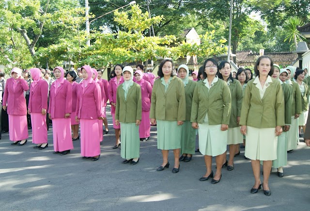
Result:
<svg viewBox="0 0 310 211"><path fill-rule="evenodd" d="M280 82L272 78L261 99L260 90L255 87L254 80L248 81L244 93L240 125L254 128L284 126L284 97Z"/></svg>

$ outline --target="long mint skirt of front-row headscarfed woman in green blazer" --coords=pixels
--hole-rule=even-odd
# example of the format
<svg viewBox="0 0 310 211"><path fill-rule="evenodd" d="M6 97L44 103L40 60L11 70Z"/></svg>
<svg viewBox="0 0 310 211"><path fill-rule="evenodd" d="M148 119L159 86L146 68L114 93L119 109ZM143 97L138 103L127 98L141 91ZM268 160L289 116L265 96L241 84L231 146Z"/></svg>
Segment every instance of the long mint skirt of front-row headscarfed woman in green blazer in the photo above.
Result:
<svg viewBox="0 0 310 211"><path fill-rule="evenodd" d="M136 123L121 123L121 156L124 159L140 157L139 126Z"/></svg>

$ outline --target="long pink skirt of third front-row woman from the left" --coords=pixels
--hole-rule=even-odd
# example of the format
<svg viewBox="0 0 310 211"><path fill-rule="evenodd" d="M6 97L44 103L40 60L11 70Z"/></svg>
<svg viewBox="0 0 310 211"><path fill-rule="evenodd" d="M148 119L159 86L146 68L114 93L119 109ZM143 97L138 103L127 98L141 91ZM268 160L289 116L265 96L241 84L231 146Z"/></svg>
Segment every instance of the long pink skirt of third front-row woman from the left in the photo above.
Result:
<svg viewBox="0 0 310 211"><path fill-rule="evenodd" d="M71 137L71 119L55 118L53 121L53 142L54 151L62 152L73 149Z"/></svg>

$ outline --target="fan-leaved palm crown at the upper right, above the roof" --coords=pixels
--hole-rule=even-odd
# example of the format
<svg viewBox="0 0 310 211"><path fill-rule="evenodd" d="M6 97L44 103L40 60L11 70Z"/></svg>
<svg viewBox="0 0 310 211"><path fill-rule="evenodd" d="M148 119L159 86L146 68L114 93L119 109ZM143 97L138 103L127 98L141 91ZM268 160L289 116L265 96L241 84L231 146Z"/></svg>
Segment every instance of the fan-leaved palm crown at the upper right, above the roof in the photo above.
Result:
<svg viewBox="0 0 310 211"><path fill-rule="evenodd" d="M297 49L297 40L302 41L305 37L297 30L297 26L302 26L304 23L300 17L290 16L283 24L284 34L286 35L284 41L289 39L289 42L294 40Z"/></svg>

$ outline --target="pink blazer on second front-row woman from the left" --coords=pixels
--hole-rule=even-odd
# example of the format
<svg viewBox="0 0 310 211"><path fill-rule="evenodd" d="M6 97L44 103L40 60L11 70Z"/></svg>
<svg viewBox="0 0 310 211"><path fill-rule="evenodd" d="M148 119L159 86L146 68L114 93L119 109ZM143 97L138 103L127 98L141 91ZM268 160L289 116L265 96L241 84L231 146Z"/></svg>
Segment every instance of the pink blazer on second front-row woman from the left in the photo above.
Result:
<svg viewBox="0 0 310 211"><path fill-rule="evenodd" d="M32 113L41 113L47 109L48 83L40 79L36 86L30 85L28 108Z"/></svg>

